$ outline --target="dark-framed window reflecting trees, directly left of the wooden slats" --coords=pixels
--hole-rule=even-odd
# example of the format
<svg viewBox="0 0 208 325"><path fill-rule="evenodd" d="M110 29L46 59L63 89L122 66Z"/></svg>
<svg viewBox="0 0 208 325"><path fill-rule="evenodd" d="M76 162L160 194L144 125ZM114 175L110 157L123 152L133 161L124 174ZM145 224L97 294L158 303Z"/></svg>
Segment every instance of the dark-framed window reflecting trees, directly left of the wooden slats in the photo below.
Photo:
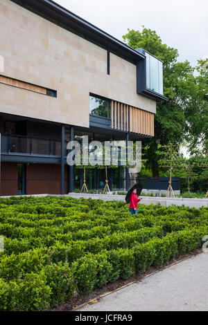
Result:
<svg viewBox="0 0 208 325"><path fill-rule="evenodd" d="M92 115L110 118L111 101L101 97L89 96L89 113Z"/></svg>

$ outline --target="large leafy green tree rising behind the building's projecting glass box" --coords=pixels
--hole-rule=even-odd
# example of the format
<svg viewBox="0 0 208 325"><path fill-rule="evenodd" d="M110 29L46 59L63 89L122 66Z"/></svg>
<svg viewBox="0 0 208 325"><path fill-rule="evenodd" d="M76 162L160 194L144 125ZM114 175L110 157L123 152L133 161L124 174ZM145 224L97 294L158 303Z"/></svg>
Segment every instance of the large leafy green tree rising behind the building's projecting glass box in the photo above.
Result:
<svg viewBox="0 0 208 325"><path fill-rule="evenodd" d="M205 125L199 122L206 119L207 113L205 91L201 89L206 84L205 73L203 75L200 68L201 62L198 77L194 76L195 69L188 61L177 62L177 49L162 44L155 30L144 26L141 32L128 29L123 40L132 48L144 48L164 62L164 96L168 97L168 102L157 102L155 137L144 141L147 148L146 167L152 169L153 176L157 177L157 145L167 145L168 142L180 145L190 138L193 140L191 145L196 145L199 138L206 142Z"/></svg>

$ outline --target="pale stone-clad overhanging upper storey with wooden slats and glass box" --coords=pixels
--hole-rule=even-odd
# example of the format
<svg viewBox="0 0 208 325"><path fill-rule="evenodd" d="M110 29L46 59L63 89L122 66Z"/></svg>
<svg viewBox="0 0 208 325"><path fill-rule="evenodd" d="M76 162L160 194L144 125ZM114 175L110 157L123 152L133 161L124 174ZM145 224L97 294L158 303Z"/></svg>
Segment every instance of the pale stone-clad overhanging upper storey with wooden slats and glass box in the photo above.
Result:
<svg viewBox="0 0 208 325"><path fill-rule="evenodd" d="M156 100L164 99L157 58L51 0L1 0L0 38L1 113L89 128L97 98L103 125L153 136Z"/></svg>

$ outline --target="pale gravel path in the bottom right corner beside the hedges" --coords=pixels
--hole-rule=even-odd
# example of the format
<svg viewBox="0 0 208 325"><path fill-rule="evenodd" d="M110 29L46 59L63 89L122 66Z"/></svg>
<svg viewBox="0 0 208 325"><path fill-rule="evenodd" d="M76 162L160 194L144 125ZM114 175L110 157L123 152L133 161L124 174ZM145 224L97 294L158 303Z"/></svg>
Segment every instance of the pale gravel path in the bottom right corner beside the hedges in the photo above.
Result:
<svg viewBox="0 0 208 325"><path fill-rule="evenodd" d="M79 310L208 310L207 270L203 252Z"/></svg>

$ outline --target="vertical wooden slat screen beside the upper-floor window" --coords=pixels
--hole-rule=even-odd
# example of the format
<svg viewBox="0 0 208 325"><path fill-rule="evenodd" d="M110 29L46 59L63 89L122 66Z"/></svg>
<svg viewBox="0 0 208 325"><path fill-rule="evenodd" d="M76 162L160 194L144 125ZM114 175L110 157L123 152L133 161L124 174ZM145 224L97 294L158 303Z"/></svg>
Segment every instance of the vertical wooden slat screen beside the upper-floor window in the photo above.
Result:
<svg viewBox="0 0 208 325"><path fill-rule="evenodd" d="M154 136L154 114L112 100L112 128Z"/></svg>

